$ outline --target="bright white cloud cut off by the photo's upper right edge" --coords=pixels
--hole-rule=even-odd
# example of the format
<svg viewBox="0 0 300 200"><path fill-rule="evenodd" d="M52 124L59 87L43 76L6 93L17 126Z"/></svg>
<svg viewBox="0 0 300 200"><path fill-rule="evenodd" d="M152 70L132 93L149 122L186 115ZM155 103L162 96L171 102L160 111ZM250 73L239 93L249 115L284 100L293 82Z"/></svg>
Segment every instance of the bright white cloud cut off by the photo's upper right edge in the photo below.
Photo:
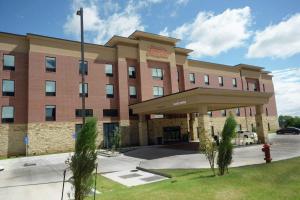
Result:
<svg viewBox="0 0 300 200"><path fill-rule="evenodd" d="M300 53L300 14L255 34L247 53L249 58L287 58Z"/></svg>

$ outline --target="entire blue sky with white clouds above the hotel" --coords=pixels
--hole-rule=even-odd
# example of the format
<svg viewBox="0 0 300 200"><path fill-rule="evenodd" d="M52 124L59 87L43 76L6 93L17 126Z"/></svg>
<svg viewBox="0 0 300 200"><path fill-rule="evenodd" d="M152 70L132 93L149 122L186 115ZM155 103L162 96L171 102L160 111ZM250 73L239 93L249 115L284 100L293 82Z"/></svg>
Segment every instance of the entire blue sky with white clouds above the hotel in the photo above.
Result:
<svg viewBox="0 0 300 200"><path fill-rule="evenodd" d="M279 113L300 115L299 0L0 1L0 31L78 40L80 6L88 42L135 29L178 37L192 58L272 71Z"/></svg>

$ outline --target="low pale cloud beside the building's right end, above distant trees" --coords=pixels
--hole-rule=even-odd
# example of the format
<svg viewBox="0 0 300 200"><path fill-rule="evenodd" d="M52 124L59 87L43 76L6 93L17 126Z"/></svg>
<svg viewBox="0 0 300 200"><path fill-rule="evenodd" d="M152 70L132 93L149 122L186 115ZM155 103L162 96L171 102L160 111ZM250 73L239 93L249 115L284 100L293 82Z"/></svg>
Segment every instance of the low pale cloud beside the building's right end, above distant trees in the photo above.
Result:
<svg viewBox="0 0 300 200"><path fill-rule="evenodd" d="M300 116L300 68L273 71L278 114Z"/></svg>

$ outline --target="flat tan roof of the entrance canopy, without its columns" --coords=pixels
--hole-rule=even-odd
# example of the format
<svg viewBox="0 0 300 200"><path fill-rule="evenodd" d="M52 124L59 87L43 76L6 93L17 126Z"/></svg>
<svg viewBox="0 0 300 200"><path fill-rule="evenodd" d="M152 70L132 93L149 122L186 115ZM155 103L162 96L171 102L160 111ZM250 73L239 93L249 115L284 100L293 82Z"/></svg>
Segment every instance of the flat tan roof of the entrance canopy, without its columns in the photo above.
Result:
<svg viewBox="0 0 300 200"><path fill-rule="evenodd" d="M248 107L268 103L273 93L241 90L194 88L131 104L134 114L184 114L197 112L205 106L208 111Z"/></svg>

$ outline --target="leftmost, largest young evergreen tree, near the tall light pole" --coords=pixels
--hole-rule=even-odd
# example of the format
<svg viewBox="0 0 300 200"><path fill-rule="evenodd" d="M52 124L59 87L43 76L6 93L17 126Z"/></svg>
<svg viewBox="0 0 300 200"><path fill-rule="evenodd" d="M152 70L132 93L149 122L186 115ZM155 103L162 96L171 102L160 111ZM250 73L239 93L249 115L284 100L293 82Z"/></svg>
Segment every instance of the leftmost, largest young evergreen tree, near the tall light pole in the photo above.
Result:
<svg viewBox="0 0 300 200"><path fill-rule="evenodd" d="M73 172L73 186L75 187L75 200L83 200L91 191L93 176L97 159L96 138L97 120L88 118L76 137L75 153L69 163Z"/></svg>

